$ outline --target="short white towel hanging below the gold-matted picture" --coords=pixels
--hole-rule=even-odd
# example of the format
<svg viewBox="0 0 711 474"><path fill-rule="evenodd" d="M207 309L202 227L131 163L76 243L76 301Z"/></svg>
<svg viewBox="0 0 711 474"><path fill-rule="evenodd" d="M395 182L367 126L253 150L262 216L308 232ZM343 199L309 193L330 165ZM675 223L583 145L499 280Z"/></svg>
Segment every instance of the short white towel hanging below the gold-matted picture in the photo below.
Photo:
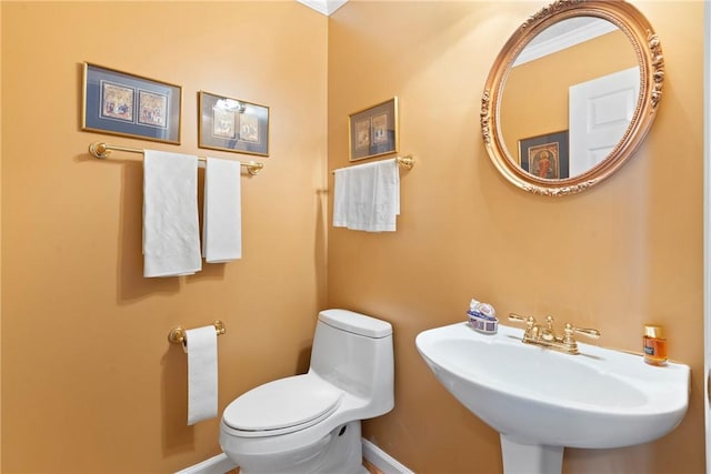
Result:
<svg viewBox="0 0 711 474"><path fill-rule="evenodd" d="M334 172L333 226L394 232L400 214L400 172L394 159Z"/></svg>

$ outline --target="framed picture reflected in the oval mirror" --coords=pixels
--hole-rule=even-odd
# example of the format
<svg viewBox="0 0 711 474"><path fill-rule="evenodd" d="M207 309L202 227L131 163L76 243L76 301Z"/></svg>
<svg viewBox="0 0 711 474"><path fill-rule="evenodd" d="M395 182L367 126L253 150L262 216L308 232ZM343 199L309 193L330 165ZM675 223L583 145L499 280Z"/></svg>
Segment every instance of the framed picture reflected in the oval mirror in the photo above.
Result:
<svg viewBox="0 0 711 474"><path fill-rule="evenodd" d="M545 180L569 178L568 130L519 140L519 164Z"/></svg>

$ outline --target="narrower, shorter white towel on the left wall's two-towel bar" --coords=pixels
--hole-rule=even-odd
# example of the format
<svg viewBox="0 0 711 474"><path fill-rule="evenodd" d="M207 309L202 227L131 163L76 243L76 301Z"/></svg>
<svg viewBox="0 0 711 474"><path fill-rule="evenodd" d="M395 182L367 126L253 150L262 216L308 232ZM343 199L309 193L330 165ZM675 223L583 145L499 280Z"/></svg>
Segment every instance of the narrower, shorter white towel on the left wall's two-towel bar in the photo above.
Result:
<svg viewBox="0 0 711 474"><path fill-rule="evenodd" d="M208 158L204 170L202 253L208 263L242 258L240 162Z"/></svg>

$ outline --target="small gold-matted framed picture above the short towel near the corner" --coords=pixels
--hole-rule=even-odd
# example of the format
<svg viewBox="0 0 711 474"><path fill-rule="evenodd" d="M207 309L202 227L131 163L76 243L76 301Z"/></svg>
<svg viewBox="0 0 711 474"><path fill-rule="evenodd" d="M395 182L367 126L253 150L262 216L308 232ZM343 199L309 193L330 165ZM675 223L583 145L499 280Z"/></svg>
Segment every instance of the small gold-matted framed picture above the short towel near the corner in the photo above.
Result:
<svg viewBox="0 0 711 474"><path fill-rule="evenodd" d="M348 117L350 161L398 152L398 98Z"/></svg>

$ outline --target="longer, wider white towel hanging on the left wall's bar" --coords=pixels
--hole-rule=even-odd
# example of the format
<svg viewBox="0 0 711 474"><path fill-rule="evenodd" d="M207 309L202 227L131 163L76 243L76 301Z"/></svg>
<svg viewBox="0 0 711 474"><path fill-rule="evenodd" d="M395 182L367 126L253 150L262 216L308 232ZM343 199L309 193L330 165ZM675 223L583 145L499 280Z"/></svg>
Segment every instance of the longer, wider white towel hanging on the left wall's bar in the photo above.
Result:
<svg viewBox="0 0 711 474"><path fill-rule="evenodd" d="M198 157L143 153L143 276L192 274L202 268Z"/></svg>

